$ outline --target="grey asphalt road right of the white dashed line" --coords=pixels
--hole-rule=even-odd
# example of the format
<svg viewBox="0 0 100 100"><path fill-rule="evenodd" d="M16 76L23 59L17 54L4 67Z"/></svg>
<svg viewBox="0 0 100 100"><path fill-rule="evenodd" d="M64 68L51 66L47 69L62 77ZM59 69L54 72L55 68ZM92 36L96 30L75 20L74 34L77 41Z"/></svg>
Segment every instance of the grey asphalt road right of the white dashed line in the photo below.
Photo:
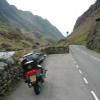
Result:
<svg viewBox="0 0 100 100"><path fill-rule="evenodd" d="M85 77L85 82L95 100L100 99L100 54L84 46L70 46L71 54L75 59L80 74Z"/></svg>

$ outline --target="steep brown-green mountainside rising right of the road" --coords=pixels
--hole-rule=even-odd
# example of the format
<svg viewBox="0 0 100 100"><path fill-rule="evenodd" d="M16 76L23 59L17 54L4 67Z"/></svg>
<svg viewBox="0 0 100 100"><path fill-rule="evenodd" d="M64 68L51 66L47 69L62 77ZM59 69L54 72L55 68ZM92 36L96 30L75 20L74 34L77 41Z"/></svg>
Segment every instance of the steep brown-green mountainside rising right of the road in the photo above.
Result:
<svg viewBox="0 0 100 100"><path fill-rule="evenodd" d="M76 21L71 35L60 44L81 44L100 52L100 0L82 14Z"/></svg>

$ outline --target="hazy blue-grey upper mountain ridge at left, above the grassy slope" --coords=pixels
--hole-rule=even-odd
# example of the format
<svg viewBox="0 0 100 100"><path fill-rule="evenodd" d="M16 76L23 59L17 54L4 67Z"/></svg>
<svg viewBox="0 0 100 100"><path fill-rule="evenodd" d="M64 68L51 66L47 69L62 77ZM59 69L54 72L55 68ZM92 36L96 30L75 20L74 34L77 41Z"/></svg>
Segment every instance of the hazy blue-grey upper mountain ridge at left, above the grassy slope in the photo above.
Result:
<svg viewBox="0 0 100 100"><path fill-rule="evenodd" d="M37 37L44 37L50 41L64 38L48 20L33 15L31 12L18 10L15 6L9 5L6 0L0 0L0 17L3 23L31 32Z"/></svg>

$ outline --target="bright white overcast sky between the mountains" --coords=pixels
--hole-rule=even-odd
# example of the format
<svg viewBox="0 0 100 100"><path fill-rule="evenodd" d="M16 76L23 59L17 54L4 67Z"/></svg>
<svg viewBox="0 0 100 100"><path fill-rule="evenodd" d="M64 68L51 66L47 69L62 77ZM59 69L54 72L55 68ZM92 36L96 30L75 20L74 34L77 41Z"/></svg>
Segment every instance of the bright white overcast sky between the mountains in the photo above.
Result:
<svg viewBox="0 0 100 100"><path fill-rule="evenodd" d="M64 36L71 33L75 22L96 0L7 0L18 9L31 11L48 19Z"/></svg>

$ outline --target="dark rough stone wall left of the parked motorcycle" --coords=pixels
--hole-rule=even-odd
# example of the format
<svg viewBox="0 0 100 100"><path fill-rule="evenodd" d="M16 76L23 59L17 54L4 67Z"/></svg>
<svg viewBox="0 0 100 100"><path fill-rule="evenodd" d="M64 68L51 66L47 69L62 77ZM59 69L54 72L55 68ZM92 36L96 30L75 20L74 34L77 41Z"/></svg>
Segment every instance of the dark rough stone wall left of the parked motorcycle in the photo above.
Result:
<svg viewBox="0 0 100 100"><path fill-rule="evenodd" d="M21 68L13 59L0 61L0 96L9 90L15 81L21 78Z"/></svg>

